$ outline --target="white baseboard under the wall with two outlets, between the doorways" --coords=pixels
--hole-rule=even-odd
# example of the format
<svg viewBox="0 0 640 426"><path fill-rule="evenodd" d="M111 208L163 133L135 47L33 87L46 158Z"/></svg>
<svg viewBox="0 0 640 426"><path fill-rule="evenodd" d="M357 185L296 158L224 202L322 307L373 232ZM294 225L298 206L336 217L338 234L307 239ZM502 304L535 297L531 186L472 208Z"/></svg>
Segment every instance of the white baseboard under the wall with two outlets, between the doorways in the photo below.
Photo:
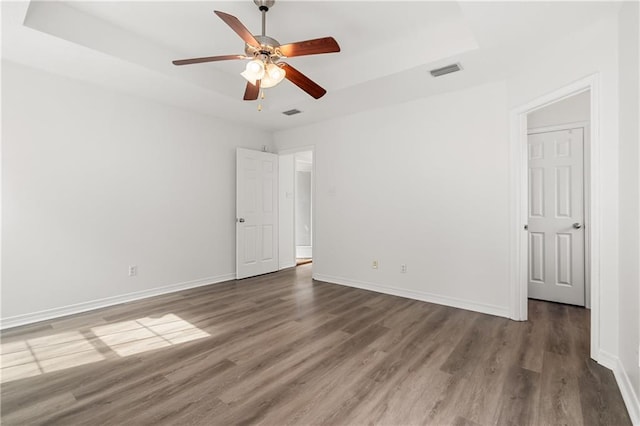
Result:
<svg viewBox="0 0 640 426"><path fill-rule="evenodd" d="M363 281L351 280L348 278L334 277L331 275L314 274L313 279L325 281L332 284L340 284L348 287L361 288L363 290L375 291L377 293L390 294L393 296L405 297L407 299L421 300L423 302L436 303L438 305L451 306L454 308L465 309L467 311L480 312L483 314L495 315L499 317L509 318L508 306L496 306L486 303L478 303L471 300L458 299L455 297L442 296L433 293L426 293L416 290L407 290L403 288L382 286Z"/></svg>

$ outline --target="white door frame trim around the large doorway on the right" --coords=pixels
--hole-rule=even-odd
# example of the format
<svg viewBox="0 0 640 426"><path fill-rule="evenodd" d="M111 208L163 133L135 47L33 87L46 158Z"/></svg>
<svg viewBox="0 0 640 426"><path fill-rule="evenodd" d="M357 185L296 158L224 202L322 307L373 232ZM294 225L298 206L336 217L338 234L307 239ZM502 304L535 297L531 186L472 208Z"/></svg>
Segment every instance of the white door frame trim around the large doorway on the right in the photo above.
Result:
<svg viewBox="0 0 640 426"><path fill-rule="evenodd" d="M585 162L585 280L590 282L591 358L599 361L600 353L600 232L602 204L600 202L600 91L599 74L589 75L567 86L540 96L510 111L510 212L509 212L509 316L516 321L527 320L528 248L524 225L527 223L527 114L570 96L590 91L588 162ZM585 156L586 157L586 156ZM588 186L588 189L587 189ZM589 222L587 222L589 218ZM588 265L588 266L587 266ZM588 277L588 278L587 278Z"/></svg>

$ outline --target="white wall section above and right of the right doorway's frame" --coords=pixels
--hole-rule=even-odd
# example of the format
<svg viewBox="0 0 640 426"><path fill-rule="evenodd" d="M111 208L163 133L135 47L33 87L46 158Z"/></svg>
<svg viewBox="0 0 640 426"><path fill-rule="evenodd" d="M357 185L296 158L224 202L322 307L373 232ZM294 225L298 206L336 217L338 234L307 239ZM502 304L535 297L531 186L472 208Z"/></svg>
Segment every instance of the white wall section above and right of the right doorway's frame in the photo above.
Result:
<svg viewBox="0 0 640 426"><path fill-rule="evenodd" d="M509 107L533 99L597 73L600 102L601 169L599 185L602 215L600 249L600 344L604 356L618 353L618 27L615 19L599 23L558 40L549 49L532 52L523 71L508 81Z"/></svg>

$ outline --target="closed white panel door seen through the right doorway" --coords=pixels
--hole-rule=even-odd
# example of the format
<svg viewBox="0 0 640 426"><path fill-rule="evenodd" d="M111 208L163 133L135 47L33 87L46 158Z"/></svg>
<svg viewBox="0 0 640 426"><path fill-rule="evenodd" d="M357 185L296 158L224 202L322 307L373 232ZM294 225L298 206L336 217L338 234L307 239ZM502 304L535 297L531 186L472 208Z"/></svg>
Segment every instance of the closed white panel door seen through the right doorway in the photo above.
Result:
<svg viewBox="0 0 640 426"><path fill-rule="evenodd" d="M583 129L530 134L529 297L584 306Z"/></svg>

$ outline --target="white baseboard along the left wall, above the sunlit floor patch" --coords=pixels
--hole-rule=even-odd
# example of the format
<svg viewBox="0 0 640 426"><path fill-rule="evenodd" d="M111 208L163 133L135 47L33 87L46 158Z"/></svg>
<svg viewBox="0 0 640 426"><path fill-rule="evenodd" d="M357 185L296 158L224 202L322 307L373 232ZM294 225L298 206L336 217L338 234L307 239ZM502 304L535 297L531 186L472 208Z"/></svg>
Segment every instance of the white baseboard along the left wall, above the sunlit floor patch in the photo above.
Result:
<svg viewBox="0 0 640 426"><path fill-rule="evenodd" d="M108 306L119 305L121 303L132 302L134 300L146 299L153 296L175 293L176 291L187 290L195 287L202 287L209 284L218 284L221 282L235 280L236 274L219 275L217 277L201 278L193 281L186 281L178 284L171 284L162 287L156 287L148 290L135 291L133 293L122 294L119 296L105 297L103 299L92 300L89 302L76 303L74 305L62 306L59 308L47 309L44 311L34 312L30 314L16 315L12 317L0 319L0 330L6 328L18 327L20 325L32 324L39 321L60 318L67 315L79 314L82 312L92 311L94 309L106 308Z"/></svg>

